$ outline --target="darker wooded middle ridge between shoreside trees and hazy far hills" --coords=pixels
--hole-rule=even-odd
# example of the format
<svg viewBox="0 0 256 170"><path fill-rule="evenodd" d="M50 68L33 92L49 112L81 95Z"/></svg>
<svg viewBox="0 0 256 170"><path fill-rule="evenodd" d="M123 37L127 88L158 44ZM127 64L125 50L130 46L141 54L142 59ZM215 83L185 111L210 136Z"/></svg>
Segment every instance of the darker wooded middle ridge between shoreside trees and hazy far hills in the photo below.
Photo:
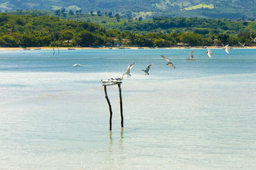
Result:
<svg viewBox="0 0 256 170"><path fill-rule="evenodd" d="M102 13L58 13L40 10L15 11L9 12L13 15L51 15L68 20L90 21L99 24L105 29L116 29L118 31L132 31L134 33L198 33L204 37L225 33L227 35L237 35L237 33L254 33L256 32L255 21L227 20L227 19L200 19L184 17L153 17L153 19L123 19L119 15Z"/></svg>

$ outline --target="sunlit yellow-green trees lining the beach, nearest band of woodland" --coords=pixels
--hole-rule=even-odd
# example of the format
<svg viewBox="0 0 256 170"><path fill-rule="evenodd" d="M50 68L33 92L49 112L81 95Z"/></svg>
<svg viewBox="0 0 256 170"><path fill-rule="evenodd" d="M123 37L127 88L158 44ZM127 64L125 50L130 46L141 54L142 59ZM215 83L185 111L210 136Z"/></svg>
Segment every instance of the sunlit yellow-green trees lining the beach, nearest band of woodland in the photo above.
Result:
<svg viewBox="0 0 256 170"><path fill-rule="evenodd" d="M158 22L161 24L163 20ZM195 24L193 21L190 22L191 26ZM218 20L214 22L218 23ZM254 45L255 43L252 38L256 33L251 30L241 31L236 35L211 31L204 34L205 31L207 32L207 29L193 32L184 30L180 33L161 33L161 31L134 33L134 31L108 30L92 22L65 20L48 15L0 13L1 47L90 47L113 46L116 43L143 47L171 47L180 44L196 46L228 43L239 45L244 42L246 45Z"/></svg>

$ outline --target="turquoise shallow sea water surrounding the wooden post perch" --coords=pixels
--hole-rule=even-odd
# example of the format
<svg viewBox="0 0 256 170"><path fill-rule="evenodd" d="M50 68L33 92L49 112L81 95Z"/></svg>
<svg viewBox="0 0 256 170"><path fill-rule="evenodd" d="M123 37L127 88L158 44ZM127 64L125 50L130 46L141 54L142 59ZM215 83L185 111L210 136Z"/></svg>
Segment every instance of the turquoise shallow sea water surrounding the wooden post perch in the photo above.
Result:
<svg viewBox="0 0 256 170"><path fill-rule="evenodd" d="M1 51L0 169L255 169L256 50L190 51Z"/></svg>

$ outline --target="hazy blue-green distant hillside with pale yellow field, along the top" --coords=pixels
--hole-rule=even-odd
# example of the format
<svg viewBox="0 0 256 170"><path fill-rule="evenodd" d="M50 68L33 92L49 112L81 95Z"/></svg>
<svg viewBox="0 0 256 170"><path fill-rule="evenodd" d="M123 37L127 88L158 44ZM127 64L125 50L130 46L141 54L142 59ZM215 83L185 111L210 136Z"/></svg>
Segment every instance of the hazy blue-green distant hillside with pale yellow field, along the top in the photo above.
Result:
<svg viewBox="0 0 256 170"><path fill-rule="evenodd" d="M256 18L255 0L0 0L2 12L12 10L83 10L83 12L120 12L144 17L209 17L209 18Z"/></svg>

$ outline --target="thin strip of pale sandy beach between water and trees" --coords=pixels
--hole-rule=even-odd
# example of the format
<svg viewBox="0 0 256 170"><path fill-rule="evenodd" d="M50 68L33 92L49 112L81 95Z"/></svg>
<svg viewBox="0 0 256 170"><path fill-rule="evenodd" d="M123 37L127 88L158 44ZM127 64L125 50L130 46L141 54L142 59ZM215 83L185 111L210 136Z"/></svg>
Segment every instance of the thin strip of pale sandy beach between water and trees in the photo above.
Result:
<svg viewBox="0 0 256 170"><path fill-rule="evenodd" d="M60 50L102 50L109 49L110 47L59 47ZM207 47L124 47L124 49L223 49L225 47L207 46ZM256 49L256 46L250 47L231 47L232 49ZM1 50L58 50L56 47L27 47L23 49L21 47L0 47ZM120 47L111 47L111 49L120 49Z"/></svg>

